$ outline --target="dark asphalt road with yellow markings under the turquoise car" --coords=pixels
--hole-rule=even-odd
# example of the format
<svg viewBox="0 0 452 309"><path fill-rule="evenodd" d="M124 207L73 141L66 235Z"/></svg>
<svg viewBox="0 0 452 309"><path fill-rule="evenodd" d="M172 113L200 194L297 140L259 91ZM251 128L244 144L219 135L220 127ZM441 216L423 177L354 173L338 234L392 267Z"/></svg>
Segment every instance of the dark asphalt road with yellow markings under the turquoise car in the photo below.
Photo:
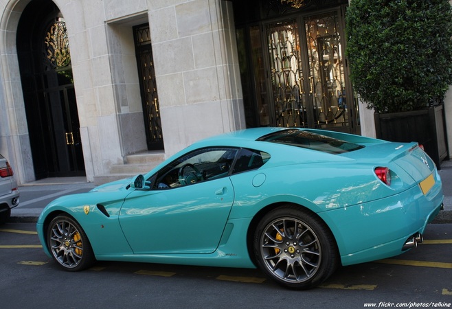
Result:
<svg viewBox="0 0 452 309"><path fill-rule="evenodd" d="M257 269L98 262L63 271L33 223L0 227L2 308L452 308L452 224L392 259L346 266L319 288L286 290Z"/></svg>

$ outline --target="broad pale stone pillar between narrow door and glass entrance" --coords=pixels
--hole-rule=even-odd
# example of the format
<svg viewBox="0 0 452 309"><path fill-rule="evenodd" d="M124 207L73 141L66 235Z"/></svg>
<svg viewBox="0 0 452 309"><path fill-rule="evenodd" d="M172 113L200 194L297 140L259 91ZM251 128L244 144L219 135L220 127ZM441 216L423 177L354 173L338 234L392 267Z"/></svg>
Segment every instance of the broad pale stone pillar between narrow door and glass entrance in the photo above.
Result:
<svg viewBox="0 0 452 309"><path fill-rule="evenodd" d="M149 23L168 157L203 137L245 128L245 113L232 3L160 4L150 8Z"/></svg>

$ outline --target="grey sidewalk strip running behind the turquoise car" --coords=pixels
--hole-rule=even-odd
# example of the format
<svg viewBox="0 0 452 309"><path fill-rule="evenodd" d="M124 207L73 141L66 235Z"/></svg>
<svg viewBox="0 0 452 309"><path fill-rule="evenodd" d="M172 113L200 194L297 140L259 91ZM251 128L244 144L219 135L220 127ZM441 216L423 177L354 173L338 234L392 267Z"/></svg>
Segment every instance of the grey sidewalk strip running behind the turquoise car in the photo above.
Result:
<svg viewBox="0 0 452 309"><path fill-rule="evenodd" d="M452 223L452 160L443 161L438 172L444 191L444 210L433 223ZM21 185L20 203L12 209L10 222L36 222L45 205L58 196L88 192L93 187L85 177L48 178Z"/></svg>

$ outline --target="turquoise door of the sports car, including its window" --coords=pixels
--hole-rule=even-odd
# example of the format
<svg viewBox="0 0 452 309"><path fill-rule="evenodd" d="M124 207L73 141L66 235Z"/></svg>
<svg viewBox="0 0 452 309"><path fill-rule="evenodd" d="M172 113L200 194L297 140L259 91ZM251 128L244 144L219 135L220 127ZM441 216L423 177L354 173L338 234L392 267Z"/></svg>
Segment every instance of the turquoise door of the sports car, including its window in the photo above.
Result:
<svg viewBox="0 0 452 309"><path fill-rule="evenodd" d="M235 154L218 148L191 153L152 176L150 189L127 196L120 224L133 252L214 252L234 202L226 161ZM199 177L181 176L185 165L194 166ZM165 186L163 180L168 180Z"/></svg>

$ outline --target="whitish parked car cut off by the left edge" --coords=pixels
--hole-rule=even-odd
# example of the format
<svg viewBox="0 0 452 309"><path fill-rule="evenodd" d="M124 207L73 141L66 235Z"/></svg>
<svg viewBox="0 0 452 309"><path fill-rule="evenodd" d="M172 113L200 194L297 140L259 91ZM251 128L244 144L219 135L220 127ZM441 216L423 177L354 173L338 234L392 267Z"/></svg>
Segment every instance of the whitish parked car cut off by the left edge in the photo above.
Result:
<svg viewBox="0 0 452 309"><path fill-rule="evenodd" d="M10 163L0 155L0 225L11 216L11 208L19 205L19 187Z"/></svg>

